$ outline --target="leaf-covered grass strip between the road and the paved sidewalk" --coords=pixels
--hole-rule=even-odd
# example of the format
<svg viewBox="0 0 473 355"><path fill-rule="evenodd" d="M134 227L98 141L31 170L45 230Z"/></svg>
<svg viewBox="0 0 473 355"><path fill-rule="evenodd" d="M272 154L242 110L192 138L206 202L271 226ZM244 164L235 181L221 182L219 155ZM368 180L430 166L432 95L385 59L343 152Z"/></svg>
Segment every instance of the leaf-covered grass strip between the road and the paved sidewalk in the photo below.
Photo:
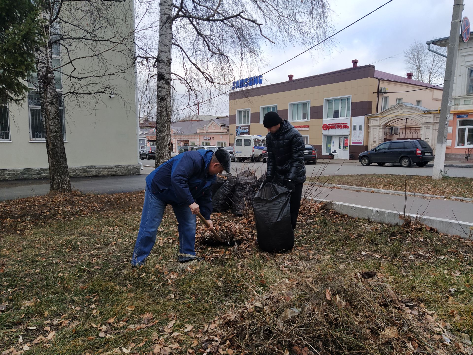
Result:
<svg viewBox="0 0 473 355"><path fill-rule="evenodd" d="M405 191L407 189L408 192L446 197L473 198L473 178L471 177L443 177L440 180L432 180L432 177L429 176L368 174L321 176L317 181L384 190Z"/></svg>

